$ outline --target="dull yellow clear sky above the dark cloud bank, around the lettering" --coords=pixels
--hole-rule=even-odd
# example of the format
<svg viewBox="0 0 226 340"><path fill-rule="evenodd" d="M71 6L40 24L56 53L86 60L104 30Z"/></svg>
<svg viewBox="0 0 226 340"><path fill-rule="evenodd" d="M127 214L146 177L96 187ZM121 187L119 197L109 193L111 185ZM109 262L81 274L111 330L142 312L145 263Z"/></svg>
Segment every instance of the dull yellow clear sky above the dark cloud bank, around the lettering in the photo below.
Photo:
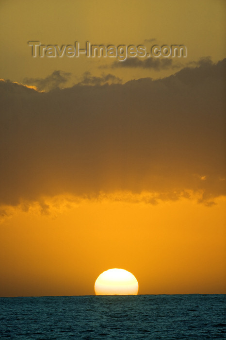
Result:
<svg viewBox="0 0 226 340"><path fill-rule="evenodd" d="M56 69L71 72L68 85L81 81L82 74L103 71L123 81L141 77L159 78L175 69L111 69L112 60L75 58L32 58L28 41L43 44L153 44L185 45L182 65L210 56L213 61L226 53L224 0L61 0L0 1L1 77L23 82L25 77L45 78ZM19 15L18 15L19 14ZM156 39L145 42L145 39ZM107 65L109 68L100 69Z"/></svg>

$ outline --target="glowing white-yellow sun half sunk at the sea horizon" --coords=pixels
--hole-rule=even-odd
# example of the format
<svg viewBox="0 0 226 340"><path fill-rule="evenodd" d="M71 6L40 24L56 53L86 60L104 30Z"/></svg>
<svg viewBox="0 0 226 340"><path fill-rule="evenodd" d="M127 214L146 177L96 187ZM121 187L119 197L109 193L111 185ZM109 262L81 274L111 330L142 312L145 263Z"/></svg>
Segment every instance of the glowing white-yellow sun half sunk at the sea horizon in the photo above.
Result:
<svg viewBox="0 0 226 340"><path fill-rule="evenodd" d="M96 295L137 295L138 281L125 269L113 268L102 272L94 285Z"/></svg>

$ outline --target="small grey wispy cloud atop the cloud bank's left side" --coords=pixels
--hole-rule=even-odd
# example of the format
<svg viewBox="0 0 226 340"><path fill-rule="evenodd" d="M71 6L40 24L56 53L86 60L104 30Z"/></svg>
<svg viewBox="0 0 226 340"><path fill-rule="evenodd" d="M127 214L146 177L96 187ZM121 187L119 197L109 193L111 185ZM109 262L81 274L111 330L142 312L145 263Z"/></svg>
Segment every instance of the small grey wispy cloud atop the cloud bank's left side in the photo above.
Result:
<svg viewBox="0 0 226 340"><path fill-rule="evenodd" d="M56 70L46 78L24 78L23 82L35 85L39 91L49 91L64 85L70 79L71 73Z"/></svg>

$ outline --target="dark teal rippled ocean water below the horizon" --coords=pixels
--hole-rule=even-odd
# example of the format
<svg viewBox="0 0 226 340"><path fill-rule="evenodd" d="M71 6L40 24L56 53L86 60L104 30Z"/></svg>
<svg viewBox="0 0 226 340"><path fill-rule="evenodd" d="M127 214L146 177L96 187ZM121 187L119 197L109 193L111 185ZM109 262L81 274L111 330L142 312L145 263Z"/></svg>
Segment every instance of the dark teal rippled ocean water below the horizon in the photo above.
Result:
<svg viewBox="0 0 226 340"><path fill-rule="evenodd" d="M0 298L0 340L226 339L226 295Z"/></svg>

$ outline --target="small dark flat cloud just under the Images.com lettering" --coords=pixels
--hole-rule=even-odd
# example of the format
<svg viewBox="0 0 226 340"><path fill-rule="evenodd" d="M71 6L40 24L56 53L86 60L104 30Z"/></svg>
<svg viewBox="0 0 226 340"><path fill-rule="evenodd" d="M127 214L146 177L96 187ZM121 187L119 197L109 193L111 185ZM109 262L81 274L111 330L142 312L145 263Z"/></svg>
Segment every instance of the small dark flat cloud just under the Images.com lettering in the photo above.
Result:
<svg viewBox="0 0 226 340"><path fill-rule="evenodd" d="M180 68L180 63L175 64L170 58L129 58L125 61L115 60L112 68L150 68L160 71L161 69Z"/></svg>

